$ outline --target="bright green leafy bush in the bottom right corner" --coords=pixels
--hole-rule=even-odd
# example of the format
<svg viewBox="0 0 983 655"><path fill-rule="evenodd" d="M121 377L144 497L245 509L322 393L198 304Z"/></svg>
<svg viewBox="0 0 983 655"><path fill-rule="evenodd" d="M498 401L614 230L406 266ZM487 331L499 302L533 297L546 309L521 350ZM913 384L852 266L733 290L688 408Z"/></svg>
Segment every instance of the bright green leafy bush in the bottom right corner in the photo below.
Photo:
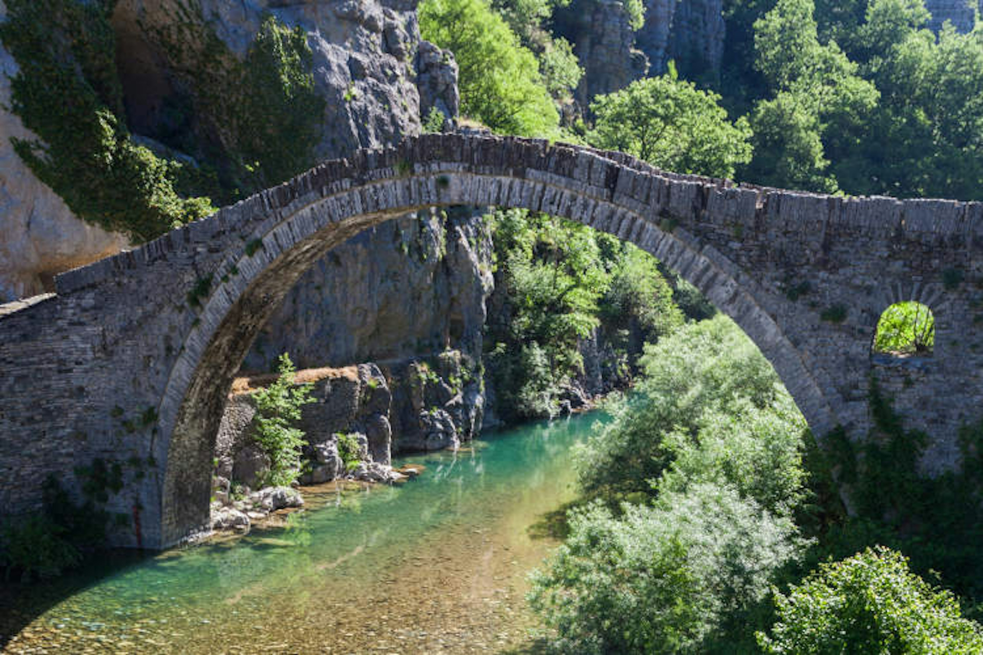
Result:
<svg viewBox="0 0 983 655"><path fill-rule="evenodd" d="M759 635L767 653L983 652L983 629L962 618L952 594L887 548L820 565L776 604L778 622Z"/></svg>

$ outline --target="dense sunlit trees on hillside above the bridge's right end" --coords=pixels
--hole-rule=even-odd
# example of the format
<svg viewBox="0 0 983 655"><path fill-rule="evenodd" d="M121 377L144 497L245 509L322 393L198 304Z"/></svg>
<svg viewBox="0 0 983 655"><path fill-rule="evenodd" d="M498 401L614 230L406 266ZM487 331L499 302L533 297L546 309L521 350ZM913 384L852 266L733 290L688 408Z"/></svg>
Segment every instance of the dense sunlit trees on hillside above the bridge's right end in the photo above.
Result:
<svg viewBox="0 0 983 655"><path fill-rule="evenodd" d="M926 28L920 0L728 0L723 102L759 184L979 197L983 38ZM747 52L753 43L753 69Z"/></svg>

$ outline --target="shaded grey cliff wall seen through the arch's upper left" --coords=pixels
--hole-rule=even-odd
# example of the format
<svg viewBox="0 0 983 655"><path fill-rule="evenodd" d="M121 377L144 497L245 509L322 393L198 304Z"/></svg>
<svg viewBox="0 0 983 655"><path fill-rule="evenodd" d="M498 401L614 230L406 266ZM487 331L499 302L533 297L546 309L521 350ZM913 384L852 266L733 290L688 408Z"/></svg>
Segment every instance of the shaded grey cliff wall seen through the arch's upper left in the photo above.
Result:
<svg viewBox="0 0 983 655"><path fill-rule="evenodd" d="M470 211L389 221L332 250L264 326L244 370L429 355L477 358L492 291L492 238Z"/></svg>

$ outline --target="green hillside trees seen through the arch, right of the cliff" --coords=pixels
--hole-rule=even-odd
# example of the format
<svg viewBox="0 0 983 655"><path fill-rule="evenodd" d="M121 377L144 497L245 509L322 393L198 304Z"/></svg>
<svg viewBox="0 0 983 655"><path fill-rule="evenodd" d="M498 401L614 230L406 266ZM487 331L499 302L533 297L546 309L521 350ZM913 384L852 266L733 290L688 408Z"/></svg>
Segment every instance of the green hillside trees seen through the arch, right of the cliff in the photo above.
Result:
<svg viewBox="0 0 983 655"><path fill-rule="evenodd" d="M581 340L605 330L627 358L636 334L655 340L682 322L658 261L583 225L521 210L492 215L500 323L487 353L503 418L548 416L582 372ZM627 365L627 360L625 365Z"/></svg>

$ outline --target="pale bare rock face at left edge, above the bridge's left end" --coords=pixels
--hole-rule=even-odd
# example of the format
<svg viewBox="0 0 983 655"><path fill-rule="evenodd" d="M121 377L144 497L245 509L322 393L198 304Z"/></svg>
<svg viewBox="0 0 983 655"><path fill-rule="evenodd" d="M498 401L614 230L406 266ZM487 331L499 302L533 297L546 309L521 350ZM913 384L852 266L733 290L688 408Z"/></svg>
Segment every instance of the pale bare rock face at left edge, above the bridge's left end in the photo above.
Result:
<svg viewBox="0 0 983 655"><path fill-rule="evenodd" d="M0 21L6 14L0 0ZM56 273L129 246L123 235L76 218L14 151L11 138L36 138L7 110L17 71L14 58L0 47L0 302L53 291Z"/></svg>

